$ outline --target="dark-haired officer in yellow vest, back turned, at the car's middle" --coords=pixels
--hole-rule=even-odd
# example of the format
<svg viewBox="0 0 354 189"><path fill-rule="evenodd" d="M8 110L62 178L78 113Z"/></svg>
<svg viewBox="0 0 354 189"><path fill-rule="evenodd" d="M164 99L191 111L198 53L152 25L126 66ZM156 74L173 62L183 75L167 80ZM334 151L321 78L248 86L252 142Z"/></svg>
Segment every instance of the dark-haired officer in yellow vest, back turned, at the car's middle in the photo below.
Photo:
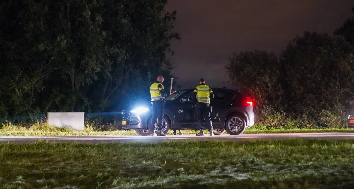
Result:
<svg viewBox="0 0 354 189"><path fill-rule="evenodd" d="M200 132L196 134L196 136L204 136L203 132L203 122L204 119L206 121L206 126L209 127L210 136L214 136L213 134L213 126L210 118L211 106L210 100L213 99L214 93L211 88L205 85L205 79L201 78L199 80L199 86L195 87L195 103L196 103L196 113L198 118L198 124L200 125Z"/></svg>

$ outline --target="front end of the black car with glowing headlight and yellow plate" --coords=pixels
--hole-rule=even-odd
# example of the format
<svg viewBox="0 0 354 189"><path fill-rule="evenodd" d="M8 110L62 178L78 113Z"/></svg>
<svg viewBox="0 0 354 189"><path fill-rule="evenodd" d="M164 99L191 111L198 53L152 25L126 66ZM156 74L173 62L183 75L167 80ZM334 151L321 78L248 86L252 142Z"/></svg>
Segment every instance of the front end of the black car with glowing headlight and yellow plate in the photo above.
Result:
<svg viewBox="0 0 354 189"><path fill-rule="evenodd" d="M129 110L122 111L123 120L121 126L123 129L143 130L147 129L147 120L151 117L151 113L135 114Z"/></svg>

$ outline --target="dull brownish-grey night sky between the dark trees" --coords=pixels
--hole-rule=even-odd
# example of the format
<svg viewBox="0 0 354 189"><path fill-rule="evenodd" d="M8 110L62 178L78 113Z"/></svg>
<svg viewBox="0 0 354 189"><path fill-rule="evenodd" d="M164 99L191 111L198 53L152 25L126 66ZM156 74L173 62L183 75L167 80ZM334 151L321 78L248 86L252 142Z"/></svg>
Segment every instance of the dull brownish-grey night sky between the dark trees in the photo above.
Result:
<svg viewBox="0 0 354 189"><path fill-rule="evenodd" d="M182 88L199 85L232 87L224 66L233 52L281 52L302 32L333 31L352 17L353 0L169 0L167 11L177 11L172 42L173 71ZM166 80L166 82L170 82Z"/></svg>

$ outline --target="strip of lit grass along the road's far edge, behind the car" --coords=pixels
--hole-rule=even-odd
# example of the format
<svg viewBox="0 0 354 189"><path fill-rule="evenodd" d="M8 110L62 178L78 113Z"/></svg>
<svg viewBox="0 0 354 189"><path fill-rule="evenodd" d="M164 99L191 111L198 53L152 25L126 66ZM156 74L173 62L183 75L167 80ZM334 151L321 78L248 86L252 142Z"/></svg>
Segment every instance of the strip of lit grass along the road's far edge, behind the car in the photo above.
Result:
<svg viewBox="0 0 354 189"><path fill-rule="evenodd" d="M183 130L183 134L196 134L197 130ZM207 130L204 131L209 134ZM354 132L354 128L321 128L321 129L305 129L305 128L283 128L283 127L255 127L246 128L245 134L257 133L307 133L307 132ZM172 134L170 130L167 134ZM227 132L225 132L227 133ZM0 136L69 136L69 135L137 135L134 130L121 131L116 128L110 130L95 129L91 125L86 125L83 131L74 131L67 128L59 128L48 126L47 124L33 124L29 127L21 125L4 124L0 128Z"/></svg>

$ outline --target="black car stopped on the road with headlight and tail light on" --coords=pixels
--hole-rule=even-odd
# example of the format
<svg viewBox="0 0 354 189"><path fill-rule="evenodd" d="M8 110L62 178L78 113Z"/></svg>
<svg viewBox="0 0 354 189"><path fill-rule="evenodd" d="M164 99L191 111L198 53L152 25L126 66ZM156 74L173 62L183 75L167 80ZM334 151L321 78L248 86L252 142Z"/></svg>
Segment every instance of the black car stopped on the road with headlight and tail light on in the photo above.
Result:
<svg viewBox="0 0 354 189"><path fill-rule="evenodd" d="M244 93L227 88L212 88L211 119L214 134L238 135L254 124L253 102ZM166 97L163 132L173 130L198 130L193 98L194 89L181 90ZM151 134L151 104L139 105L133 110L122 111L122 128L135 130L139 135ZM205 123L204 123L205 124ZM207 127L204 127L208 129Z"/></svg>

